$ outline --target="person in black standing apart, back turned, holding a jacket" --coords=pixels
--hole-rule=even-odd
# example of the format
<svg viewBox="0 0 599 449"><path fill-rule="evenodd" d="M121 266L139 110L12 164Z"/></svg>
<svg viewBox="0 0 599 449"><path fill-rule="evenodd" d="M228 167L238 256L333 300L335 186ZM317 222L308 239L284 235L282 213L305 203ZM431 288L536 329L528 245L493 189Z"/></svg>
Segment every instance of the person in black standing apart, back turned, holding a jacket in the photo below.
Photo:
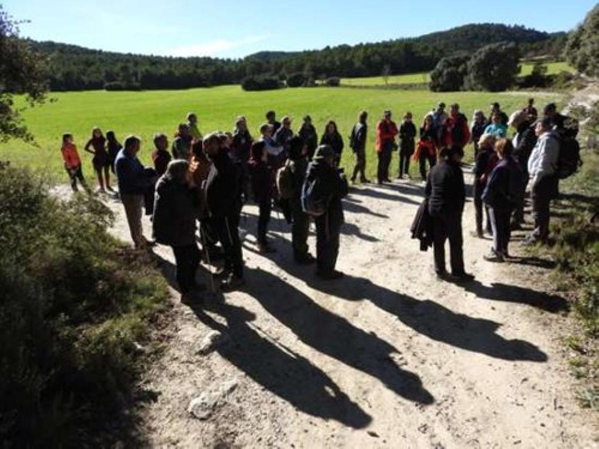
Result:
<svg viewBox="0 0 599 449"><path fill-rule="evenodd" d="M433 228L435 271L443 280L470 281L474 276L465 272L462 236L464 212L464 174L460 162L464 150L459 146L443 148L441 162L431 169L426 181L425 196ZM445 268L445 241L449 239L452 274Z"/></svg>

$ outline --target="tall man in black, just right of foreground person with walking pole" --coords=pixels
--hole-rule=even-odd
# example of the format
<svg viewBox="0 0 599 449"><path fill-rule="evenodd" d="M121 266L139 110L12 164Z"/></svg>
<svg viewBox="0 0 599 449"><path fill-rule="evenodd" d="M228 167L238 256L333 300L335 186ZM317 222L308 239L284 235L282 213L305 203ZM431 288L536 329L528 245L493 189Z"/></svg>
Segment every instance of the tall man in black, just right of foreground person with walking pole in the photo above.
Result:
<svg viewBox="0 0 599 449"><path fill-rule="evenodd" d="M225 281L221 288L231 291L244 284L243 254L239 238L241 214L240 174L231 157L221 147L216 133L204 139L204 151L212 165L205 182L205 198L211 228L217 233L225 256Z"/></svg>

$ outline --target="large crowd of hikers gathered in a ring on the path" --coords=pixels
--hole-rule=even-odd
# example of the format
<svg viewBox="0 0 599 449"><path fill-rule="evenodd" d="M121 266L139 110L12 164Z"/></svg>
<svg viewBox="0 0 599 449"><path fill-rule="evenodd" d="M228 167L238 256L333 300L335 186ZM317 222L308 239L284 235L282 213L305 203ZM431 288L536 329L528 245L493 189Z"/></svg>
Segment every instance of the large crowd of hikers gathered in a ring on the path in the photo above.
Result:
<svg viewBox="0 0 599 449"><path fill-rule="evenodd" d="M418 143L411 113L404 115L399 127L391 111L383 113L376 125L377 181L390 182L389 166L395 150L400 155L400 178L409 177L410 159L419 161L420 174L426 180L427 220L423 221L428 223L428 227L420 228L419 236L434 245L439 277L467 280L471 276L465 272L462 257L465 187L461 159L465 145L473 141L476 152L476 235L483 235L485 210L488 230L494 236L493 251L487 259L500 261L508 256L510 225L523 220L527 173L533 178L536 223L531 241L547 238L549 201L557 187L552 169L559 151L553 129L559 128L559 117L563 116L556 113L555 105L548 105L543 118L537 120L530 101L527 108L508 119L494 104L489 121L476 111L469 126L458 104L450 106L449 114L444 110L445 105L440 103L426 114ZM149 248L154 243L144 238L141 225L144 207L146 214L152 215L155 242L173 247L177 282L185 300L195 298L198 292L195 274L202 259L209 264L222 260L222 268L214 276L222 280L223 290L243 285L239 226L243 205L249 201L259 209L256 246L261 253L274 251L267 239L274 205L291 225L295 262L316 263L317 276L325 280L343 276L335 264L343 223L341 199L347 195L348 183L339 168L344 142L337 125L329 121L319 139L310 116L304 117L297 134L291 128L291 117L277 122L274 111L269 111L266 119L258 139L253 139L243 116L235 121L232 133L213 132L204 137L196 115L189 113L187 122L177 128L170 151L167 135L154 136L153 168L145 168L138 159L141 139L134 135L121 145L114 132L107 132L104 138L100 129L93 128L92 138L84 147L94 155L99 190L111 190L110 171L116 173L119 196L137 248ZM370 182L366 177L367 119L367 112L362 111L349 136L349 146L356 156L352 183L358 177L361 183ZM513 141L506 138L508 126L515 128ZM73 189L77 190L77 181L88 189L70 134L63 135L62 154ZM316 226L316 257L310 254L307 243L312 221ZM202 251L197 244L198 230ZM447 239L452 275L447 275L444 263Z"/></svg>

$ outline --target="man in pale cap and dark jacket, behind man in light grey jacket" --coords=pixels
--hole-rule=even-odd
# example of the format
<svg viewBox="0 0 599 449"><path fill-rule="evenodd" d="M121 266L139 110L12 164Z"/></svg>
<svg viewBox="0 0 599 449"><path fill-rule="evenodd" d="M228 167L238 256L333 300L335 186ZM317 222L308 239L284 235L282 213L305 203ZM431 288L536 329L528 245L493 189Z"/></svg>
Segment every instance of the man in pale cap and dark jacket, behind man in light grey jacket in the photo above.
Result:
<svg viewBox="0 0 599 449"><path fill-rule="evenodd" d="M532 128L531 117L533 116L526 111L519 111L510 117L510 126L516 128L516 135L512 141L514 147L513 157L522 172L521 195L519 197L522 201L514 210L512 230L521 229L521 225L524 224L524 197L528 184L528 159L533 152L534 145L537 144L537 135Z"/></svg>

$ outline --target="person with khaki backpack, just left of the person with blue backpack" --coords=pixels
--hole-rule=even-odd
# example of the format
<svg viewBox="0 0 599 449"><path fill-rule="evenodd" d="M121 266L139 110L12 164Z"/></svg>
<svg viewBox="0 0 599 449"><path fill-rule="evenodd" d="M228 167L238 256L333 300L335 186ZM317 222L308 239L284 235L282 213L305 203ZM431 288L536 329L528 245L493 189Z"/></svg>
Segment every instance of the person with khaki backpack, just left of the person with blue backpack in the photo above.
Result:
<svg viewBox="0 0 599 449"><path fill-rule="evenodd" d="M289 160L286 162L293 180L294 195L289 199L291 207L291 238L294 248L294 260L301 265L314 263L316 259L308 252L308 232L310 216L302 210L301 190L308 169L308 147L301 138L294 137L289 142Z"/></svg>

